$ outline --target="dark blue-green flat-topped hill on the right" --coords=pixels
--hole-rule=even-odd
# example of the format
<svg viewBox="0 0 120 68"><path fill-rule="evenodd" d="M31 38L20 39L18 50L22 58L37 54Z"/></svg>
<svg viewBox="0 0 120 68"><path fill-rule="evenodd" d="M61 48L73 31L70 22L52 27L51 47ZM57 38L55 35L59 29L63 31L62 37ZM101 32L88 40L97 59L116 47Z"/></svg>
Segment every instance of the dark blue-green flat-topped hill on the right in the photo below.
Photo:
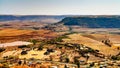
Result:
<svg viewBox="0 0 120 68"><path fill-rule="evenodd" d="M120 16L74 16L66 17L58 23L88 28L120 28Z"/></svg>

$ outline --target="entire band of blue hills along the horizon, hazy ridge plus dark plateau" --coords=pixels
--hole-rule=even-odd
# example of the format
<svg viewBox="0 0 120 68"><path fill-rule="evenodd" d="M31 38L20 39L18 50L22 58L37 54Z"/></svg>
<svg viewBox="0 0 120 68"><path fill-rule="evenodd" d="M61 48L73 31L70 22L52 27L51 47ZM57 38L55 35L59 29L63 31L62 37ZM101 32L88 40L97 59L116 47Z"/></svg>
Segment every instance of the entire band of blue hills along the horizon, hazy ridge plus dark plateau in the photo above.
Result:
<svg viewBox="0 0 120 68"><path fill-rule="evenodd" d="M0 22L59 23L88 28L120 28L119 15L0 15ZM58 25L59 25L58 24Z"/></svg>

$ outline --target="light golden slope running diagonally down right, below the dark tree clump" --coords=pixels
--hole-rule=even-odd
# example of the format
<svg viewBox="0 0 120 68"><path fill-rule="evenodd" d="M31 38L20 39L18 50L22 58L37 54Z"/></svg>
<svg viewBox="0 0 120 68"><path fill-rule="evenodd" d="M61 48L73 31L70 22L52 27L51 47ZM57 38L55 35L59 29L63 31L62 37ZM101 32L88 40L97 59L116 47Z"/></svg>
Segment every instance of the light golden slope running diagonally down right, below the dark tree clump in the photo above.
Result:
<svg viewBox="0 0 120 68"><path fill-rule="evenodd" d="M80 34L71 34L69 35L70 39L64 39L65 42L70 43L79 43L84 44L85 46L91 47L93 49L100 50L105 55L115 55L118 51L112 47L108 47L107 45L103 44L100 41L82 36Z"/></svg>

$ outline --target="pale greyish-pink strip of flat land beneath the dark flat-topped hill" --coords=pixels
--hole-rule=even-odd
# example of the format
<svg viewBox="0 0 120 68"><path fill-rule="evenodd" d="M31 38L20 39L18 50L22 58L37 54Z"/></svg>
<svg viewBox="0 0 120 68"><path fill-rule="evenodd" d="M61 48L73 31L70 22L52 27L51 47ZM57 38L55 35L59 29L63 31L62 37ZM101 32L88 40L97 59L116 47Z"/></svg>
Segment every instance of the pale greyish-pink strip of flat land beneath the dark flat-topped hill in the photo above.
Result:
<svg viewBox="0 0 120 68"><path fill-rule="evenodd" d="M119 28L82 28L80 26L70 26L71 31L83 33L98 33L98 34L120 34Z"/></svg>

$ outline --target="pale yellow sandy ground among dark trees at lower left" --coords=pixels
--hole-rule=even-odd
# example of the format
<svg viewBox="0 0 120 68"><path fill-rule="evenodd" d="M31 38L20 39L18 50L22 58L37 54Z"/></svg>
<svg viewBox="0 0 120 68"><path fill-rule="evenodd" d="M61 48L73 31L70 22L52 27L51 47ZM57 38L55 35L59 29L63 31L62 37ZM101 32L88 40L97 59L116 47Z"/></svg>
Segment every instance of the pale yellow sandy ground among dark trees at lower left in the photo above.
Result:
<svg viewBox="0 0 120 68"><path fill-rule="evenodd" d="M18 56L20 59L30 59L30 58L35 58L35 59L45 59L45 58L49 58L49 56L56 56L58 54L60 54L60 51L55 51L53 53L50 53L49 55L44 55L44 53L46 52L46 49L43 49L41 51L37 51L37 50L30 50L28 51L28 54L26 55L21 55L22 50L12 50L12 51L7 51L4 52L1 57L5 57L5 56Z"/></svg>

